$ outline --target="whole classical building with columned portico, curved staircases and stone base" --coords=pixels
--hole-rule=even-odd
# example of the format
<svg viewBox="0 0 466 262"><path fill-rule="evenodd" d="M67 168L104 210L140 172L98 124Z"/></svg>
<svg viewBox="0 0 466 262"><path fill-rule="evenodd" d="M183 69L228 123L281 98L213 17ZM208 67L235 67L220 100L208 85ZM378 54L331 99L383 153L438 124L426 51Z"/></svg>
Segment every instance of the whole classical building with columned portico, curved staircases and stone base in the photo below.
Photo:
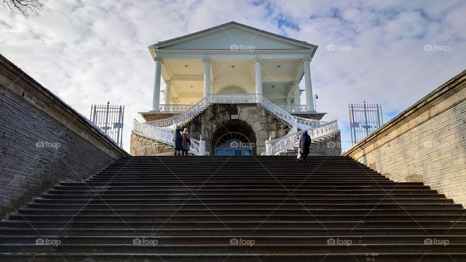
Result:
<svg viewBox="0 0 466 262"><path fill-rule="evenodd" d="M152 104L134 122L132 154L170 152L176 125L190 130L194 154L290 154L304 129L337 145L314 144L315 154L341 153L336 120L320 121L313 101L316 49L236 22L150 46Z"/></svg>

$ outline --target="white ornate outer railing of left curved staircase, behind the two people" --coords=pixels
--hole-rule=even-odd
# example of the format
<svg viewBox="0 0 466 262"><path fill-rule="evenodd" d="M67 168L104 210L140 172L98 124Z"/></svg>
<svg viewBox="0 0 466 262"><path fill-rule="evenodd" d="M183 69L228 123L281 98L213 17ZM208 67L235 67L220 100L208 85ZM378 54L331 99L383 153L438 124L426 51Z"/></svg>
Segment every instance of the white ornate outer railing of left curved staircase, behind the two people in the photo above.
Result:
<svg viewBox="0 0 466 262"><path fill-rule="evenodd" d="M154 127L145 123L140 123L134 119L133 132L137 135L174 146L174 132L168 128ZM197 140L191 137L190 152L195 155L205 154L205 140Z"/></svg>

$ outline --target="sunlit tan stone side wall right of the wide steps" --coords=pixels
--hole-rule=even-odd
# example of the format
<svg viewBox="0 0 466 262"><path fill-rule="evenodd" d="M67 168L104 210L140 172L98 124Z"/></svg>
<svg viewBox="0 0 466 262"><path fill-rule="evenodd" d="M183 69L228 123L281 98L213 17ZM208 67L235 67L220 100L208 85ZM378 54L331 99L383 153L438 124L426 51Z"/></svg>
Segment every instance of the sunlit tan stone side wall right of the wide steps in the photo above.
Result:
<svg viewBox="0 0 466 262"><path fill-rule="evenodd" d="M344 152L395 181L466 204L466 71Z"/></svg>

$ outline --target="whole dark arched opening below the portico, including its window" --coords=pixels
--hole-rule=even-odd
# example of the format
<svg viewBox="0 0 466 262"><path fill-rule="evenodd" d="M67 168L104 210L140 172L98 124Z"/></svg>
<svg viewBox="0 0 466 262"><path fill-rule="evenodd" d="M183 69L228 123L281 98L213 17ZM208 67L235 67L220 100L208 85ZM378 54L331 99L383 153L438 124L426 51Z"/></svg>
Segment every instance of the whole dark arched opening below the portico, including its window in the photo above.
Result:
<svg viewBox="0 0 466 262"><path fill-rule="evenodd" d="M216 127L212 134L213 155L255 155L256 136L251 126L243 120L230 119Z"/></svg>

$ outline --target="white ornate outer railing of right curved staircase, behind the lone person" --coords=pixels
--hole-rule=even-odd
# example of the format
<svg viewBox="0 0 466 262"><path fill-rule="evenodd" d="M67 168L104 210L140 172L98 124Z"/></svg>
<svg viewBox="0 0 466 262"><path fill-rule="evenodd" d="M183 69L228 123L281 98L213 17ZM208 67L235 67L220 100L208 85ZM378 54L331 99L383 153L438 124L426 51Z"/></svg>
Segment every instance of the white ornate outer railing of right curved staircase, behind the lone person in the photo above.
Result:
<svg viewBox="0 0 466 262"><path fill-rule="evenodd" d="M306 130L308 131L308 134L311 137L311 139L315 140L315 139L330 135L333 132L338 131L338 123L335 118L326 124L323 124L318 127L311 127ZM294 132L294 133L288 133L280 138L277 138L274 140L271 140L271 139L267 140L265 154L276 155L282 152L283 150L286 150L286 149L289 149L290 147L298 145L303 131L304 130L301 130L299 132Z"/></svg>

